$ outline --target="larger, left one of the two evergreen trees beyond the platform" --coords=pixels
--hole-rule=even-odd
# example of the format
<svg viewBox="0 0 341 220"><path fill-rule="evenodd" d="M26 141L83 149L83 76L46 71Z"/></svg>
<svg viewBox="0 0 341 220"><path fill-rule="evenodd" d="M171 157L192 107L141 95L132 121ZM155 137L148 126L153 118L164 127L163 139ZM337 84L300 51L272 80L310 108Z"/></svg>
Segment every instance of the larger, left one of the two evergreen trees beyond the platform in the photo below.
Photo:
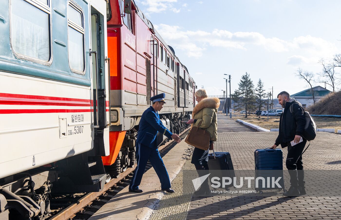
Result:
<svg viewBox="0 0 341 220"><path fill-rule="evenodd" d="M248 108L255 103L254 85L247 72L241 77L238 83L238 89L232 94L232 98L238 103L237 107L245 108L245 117L248 117Z"/></svg>

